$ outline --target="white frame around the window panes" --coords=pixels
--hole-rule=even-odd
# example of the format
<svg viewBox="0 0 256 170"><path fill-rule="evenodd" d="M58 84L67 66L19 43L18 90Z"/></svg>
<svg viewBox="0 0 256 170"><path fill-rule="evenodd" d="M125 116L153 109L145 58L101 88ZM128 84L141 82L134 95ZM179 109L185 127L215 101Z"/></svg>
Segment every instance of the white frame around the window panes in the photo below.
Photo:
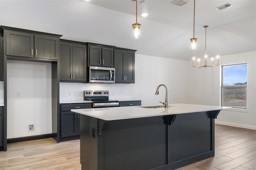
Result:
<svg viewBox="0 0 256 170"><path fill-rule="evenodd" d="M225 66L238 66L238 65L246 65L246 80L247 80L247 83L246 84L244 84L244 85L223 85L223 68L225 67ZM220 105L221 106L225 106L224 104L223 104L223 102L224 102L224 97L223 97L223 88L246 88L246 107L239 107L239 106L227 106L227 107L232 107L232 108L234 108L234 109L247 109L248 108L248 106L247 106L247 104L248 104L248 102L247 102L247 85L248 85L248 64L247 63L238 63L238 64L227 64L227 65L222 65L221 66L221 103L220 103Z"/></svg>

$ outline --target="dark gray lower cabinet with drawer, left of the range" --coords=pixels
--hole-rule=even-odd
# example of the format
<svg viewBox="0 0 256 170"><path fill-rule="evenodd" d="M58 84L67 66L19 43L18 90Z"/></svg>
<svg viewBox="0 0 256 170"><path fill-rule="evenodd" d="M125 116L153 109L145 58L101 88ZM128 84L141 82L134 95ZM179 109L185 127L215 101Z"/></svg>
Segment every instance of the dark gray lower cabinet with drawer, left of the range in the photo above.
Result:
<svg viewBox="0 0 256 170"><path fill-rule="evenodd" d="M80 135L80 115L71 109L92 108L92 103L81 104L60 104L60 141L68 141L79 138Z"/></svg>

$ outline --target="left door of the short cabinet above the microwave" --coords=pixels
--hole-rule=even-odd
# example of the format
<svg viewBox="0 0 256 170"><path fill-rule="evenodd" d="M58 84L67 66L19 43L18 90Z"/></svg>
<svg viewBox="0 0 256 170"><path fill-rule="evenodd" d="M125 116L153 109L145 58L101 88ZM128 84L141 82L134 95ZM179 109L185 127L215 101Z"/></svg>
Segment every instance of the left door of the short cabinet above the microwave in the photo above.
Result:
<svg viewBox="0 0 256 170"><path fill-rule="evenodd" d="M89 65L101 66L102 64L102 47L89 46Z"/></svg>

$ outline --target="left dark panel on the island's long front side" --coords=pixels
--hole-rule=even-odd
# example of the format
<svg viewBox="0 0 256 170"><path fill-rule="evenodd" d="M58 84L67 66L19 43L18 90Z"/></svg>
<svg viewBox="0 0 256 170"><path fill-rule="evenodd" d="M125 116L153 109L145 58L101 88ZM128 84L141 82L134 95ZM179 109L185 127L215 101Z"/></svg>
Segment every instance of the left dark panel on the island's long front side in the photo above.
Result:
<svg viewBox="0 0 256 170"><path fill-rule="evenodd" d="M166 164L166 116L108 121L104 170L148 170Z"/></svg>

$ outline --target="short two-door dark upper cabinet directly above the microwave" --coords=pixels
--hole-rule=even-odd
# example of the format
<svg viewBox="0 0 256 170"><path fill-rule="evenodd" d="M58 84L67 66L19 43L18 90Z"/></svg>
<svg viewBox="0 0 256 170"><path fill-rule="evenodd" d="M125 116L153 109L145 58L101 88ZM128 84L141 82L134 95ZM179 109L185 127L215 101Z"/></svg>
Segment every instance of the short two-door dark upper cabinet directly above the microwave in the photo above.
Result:
<svg viewBox="0 0 256 170"><path fill-rule="evenodd" d="M114 49L89 45L89 66L114 67Z"/></svg>

